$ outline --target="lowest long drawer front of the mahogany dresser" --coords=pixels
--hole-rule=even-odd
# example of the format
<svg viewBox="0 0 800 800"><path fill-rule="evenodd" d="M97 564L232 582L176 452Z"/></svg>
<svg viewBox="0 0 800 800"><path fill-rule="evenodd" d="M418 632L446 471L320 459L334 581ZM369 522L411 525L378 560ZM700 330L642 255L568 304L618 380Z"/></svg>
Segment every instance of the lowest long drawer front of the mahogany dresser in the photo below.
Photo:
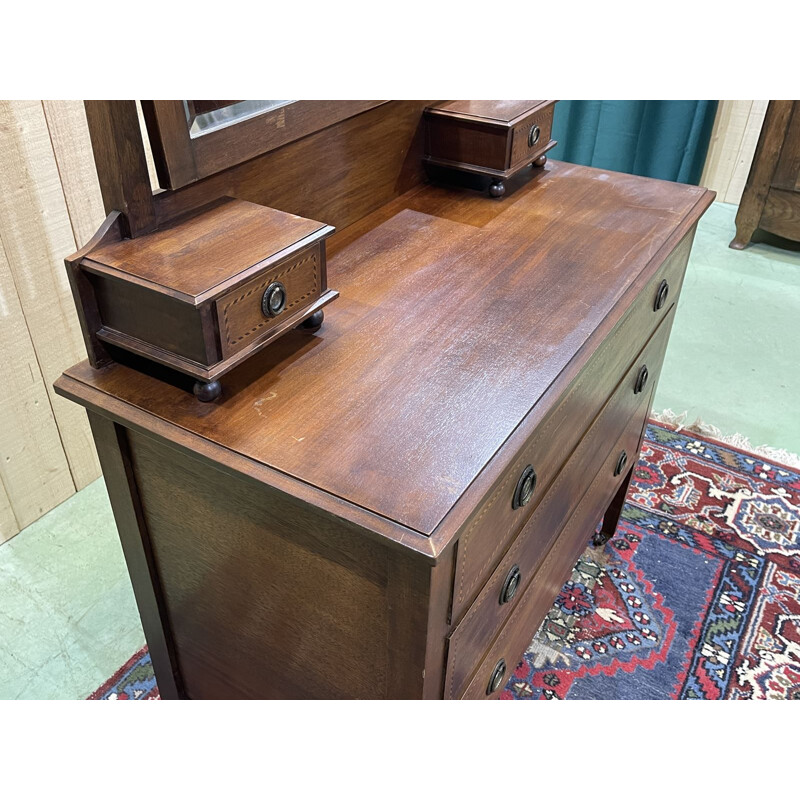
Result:
<svg viewBox="0 0 800 800"><path fill-rule="evenodd" d="M649 397L648 394L648 400ZM463 693L455 694L454 697L478 700L487 697L496 698L500 694L545 614L552 606L553 600L558 596L564 581L569 578L575 562L589 544L596 524L622 482L627 470L623 470L621 475L614 474L619 453L622 450L629 454L638 451L648 409L649 402L642 403L638 413L629 420L622 436L606 449L605 461L588 491L575 507L572 516L559 533L555 544L541 562L527 588L524 592L519 592L521 597L494 643L480 659L474 677ZM505 665L504 674L496 679L495 683L499 685L495 690L489 691L490 681L501 661Z"/></svg>

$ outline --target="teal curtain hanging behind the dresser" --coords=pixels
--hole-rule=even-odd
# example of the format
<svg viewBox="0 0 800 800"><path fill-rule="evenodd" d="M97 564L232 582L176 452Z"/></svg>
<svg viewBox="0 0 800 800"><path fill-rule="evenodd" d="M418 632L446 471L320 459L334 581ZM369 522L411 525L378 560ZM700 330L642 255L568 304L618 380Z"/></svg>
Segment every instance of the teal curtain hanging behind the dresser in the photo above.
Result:
<svg viewBox="0 0 800 800"><path fill-rule="evenodd" d="M573 164L698 183L716 100L562 100L548 155Z"/></svg>

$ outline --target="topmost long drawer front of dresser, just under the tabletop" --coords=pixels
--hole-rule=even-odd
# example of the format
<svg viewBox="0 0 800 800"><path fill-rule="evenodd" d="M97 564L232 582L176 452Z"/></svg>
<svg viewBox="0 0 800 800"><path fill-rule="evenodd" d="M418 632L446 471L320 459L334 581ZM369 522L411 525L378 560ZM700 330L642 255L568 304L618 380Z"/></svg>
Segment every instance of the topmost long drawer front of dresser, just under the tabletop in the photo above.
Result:
<svg viewBox="0 0 800 800"><path fill-rule="evenodd" d="M636 354L677 300L692 236L693 231L664 261L556 407L536 427L519 457L498 478L466 521L459 535L452 620L457 620L475 599ZM656 297L664 281L669 287L667 297L656 309ZM536 471L536 487L527 505L513 508L515 487L528 464Z"/></svg>

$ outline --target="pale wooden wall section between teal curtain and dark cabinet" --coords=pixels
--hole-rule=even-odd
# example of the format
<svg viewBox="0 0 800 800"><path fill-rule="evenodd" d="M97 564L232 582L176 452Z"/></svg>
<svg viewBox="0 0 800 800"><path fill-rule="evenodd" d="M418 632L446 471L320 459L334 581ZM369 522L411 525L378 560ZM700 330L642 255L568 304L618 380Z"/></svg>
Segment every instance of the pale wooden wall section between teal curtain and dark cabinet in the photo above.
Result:
<svg viewBox="0 0 800 800"><path fill-rule="evenodd" d="M720 100L700 185L713 189L717 200L738 205L767 100Z"/></svg>

